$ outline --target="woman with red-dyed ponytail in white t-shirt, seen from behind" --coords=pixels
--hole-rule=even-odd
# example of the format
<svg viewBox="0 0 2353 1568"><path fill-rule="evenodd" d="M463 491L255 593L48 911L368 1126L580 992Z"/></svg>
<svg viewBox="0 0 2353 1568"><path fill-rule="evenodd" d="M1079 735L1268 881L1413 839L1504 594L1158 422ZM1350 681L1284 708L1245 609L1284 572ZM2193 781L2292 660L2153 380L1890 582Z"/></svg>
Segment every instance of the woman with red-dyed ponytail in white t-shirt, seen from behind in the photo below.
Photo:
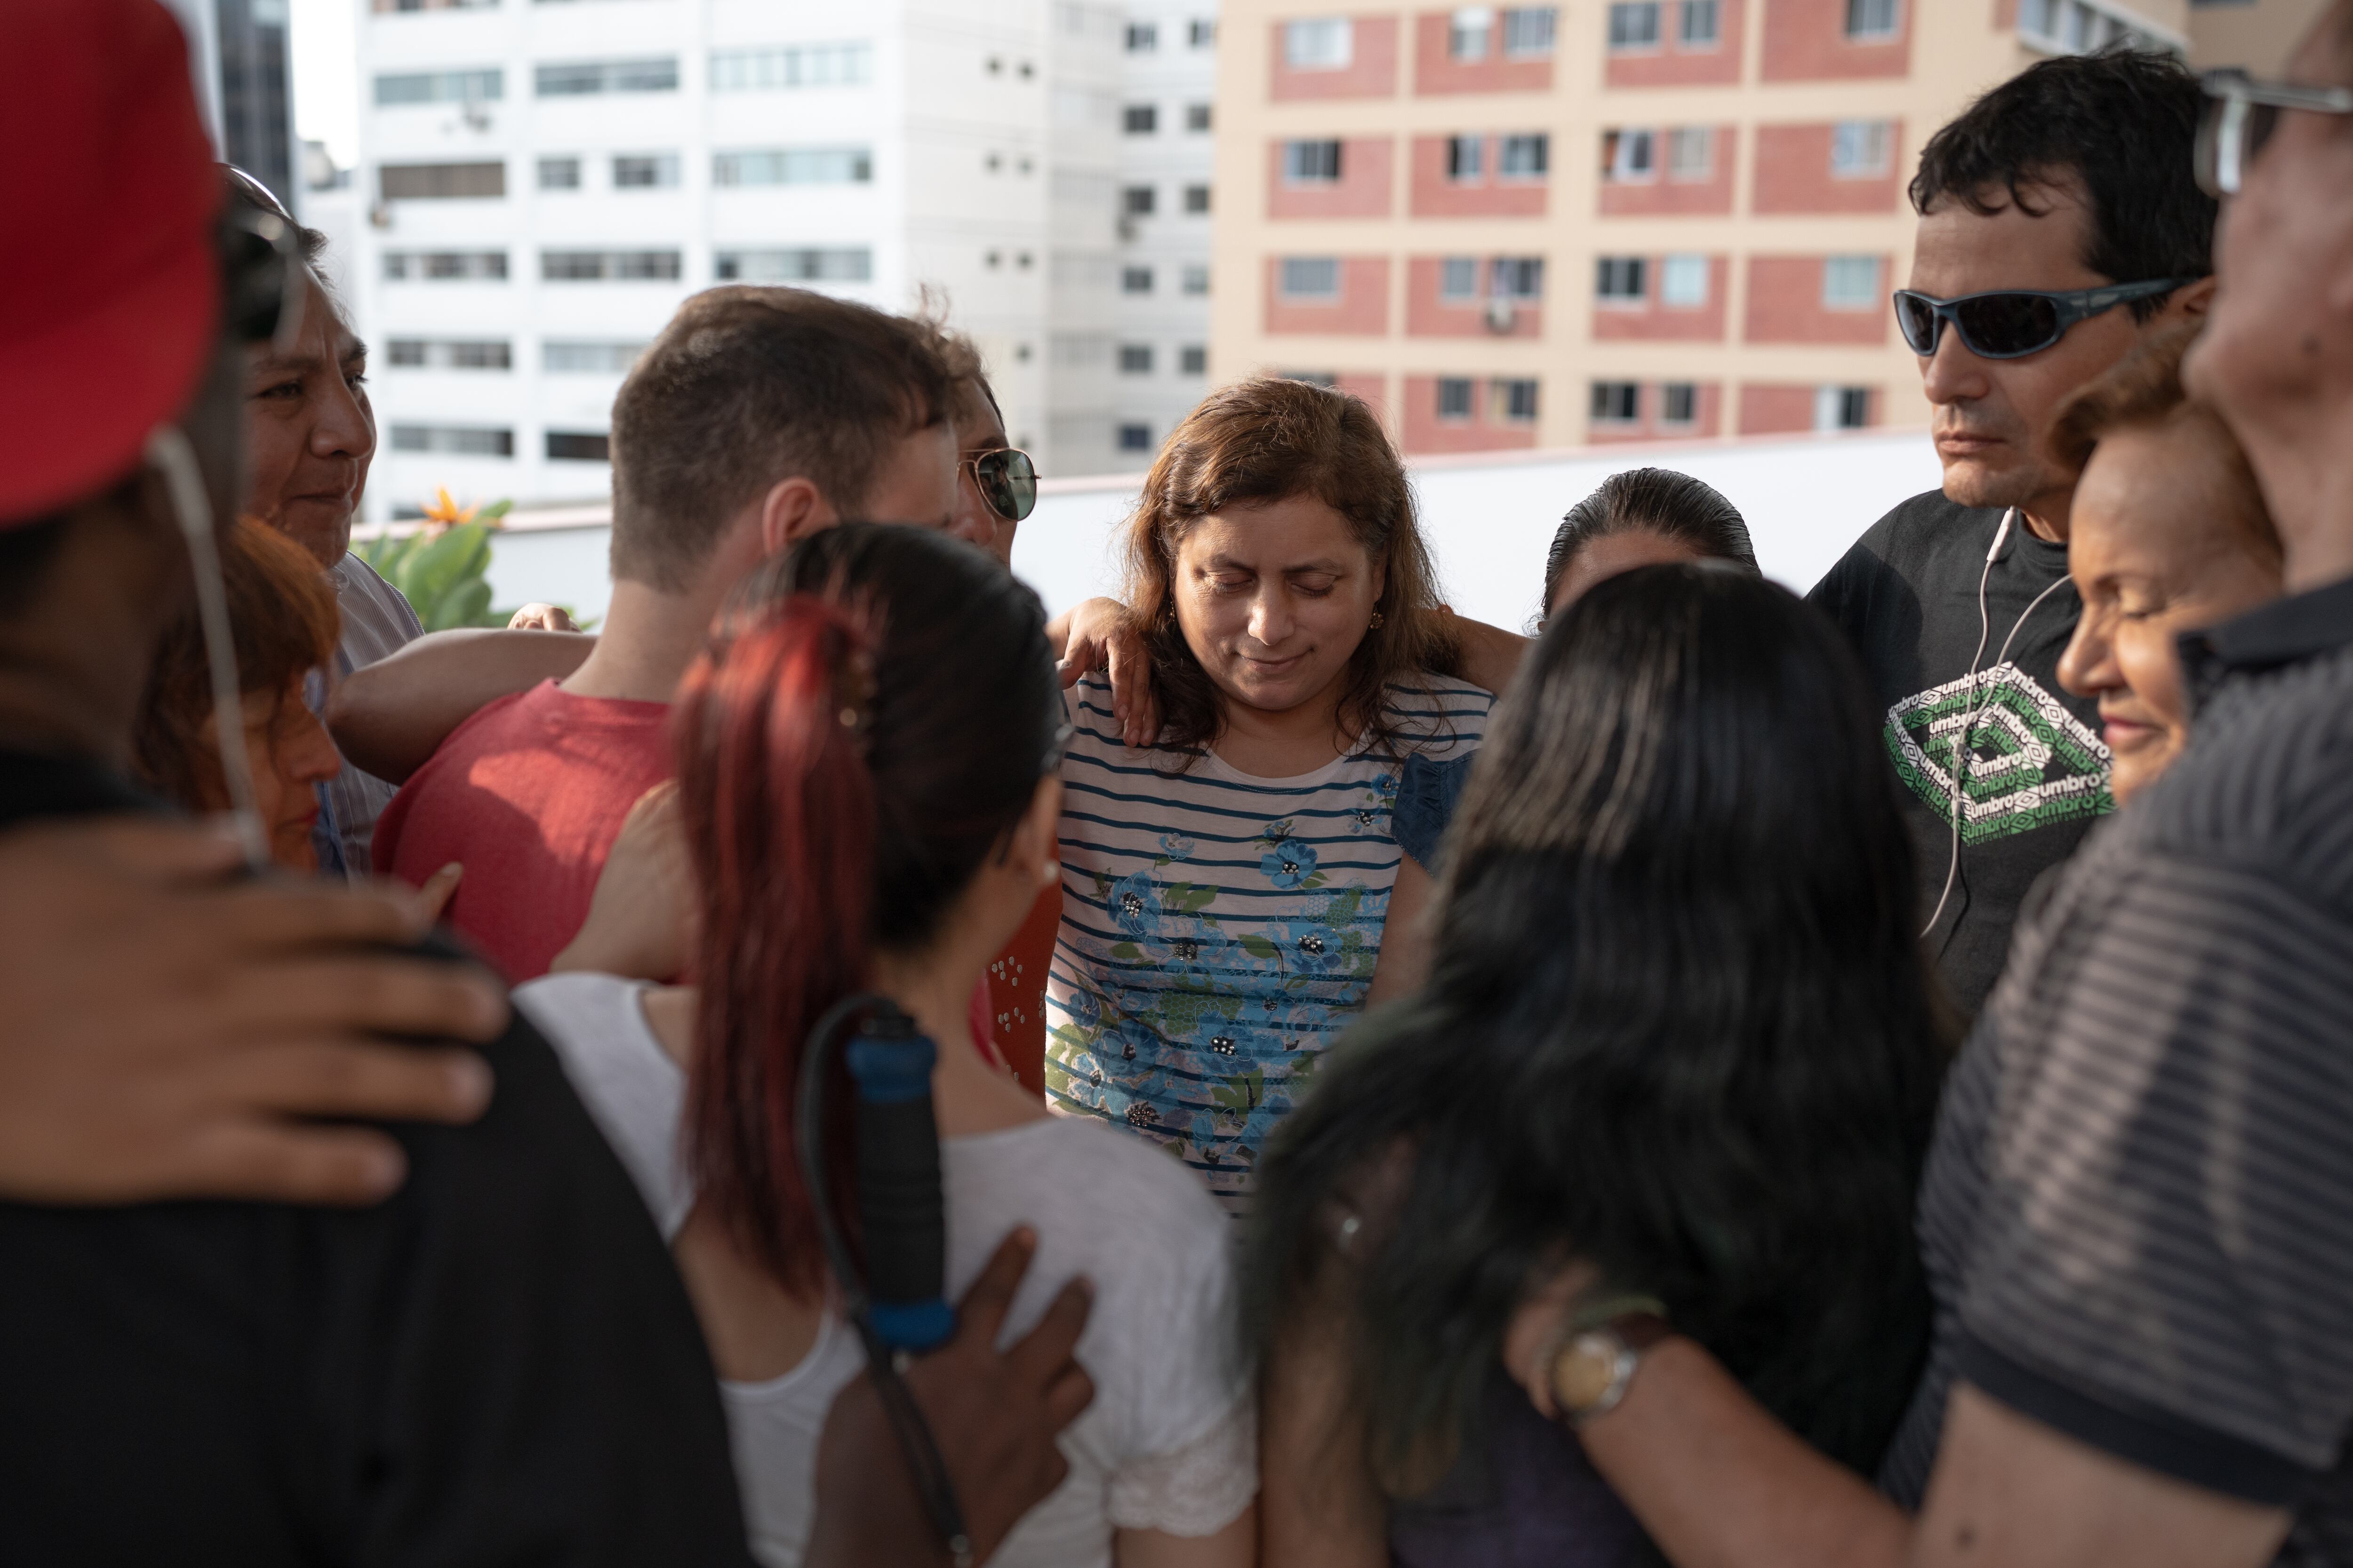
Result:
<svg viewBox="0 0 2353 1568"><path fill-rule="evenodd" d="M798 1563L816 1434L864 1349L835 1312L800 1180L812 1025L875 990L934 1041L1061 877L1061 691L1035 595L941 534L845 524L755 574L673 715L701 896L696 987L567 973L515 992L631 1168L704 1319L755 1554ZM847 1072L826 1154L856 1211ZM1247 1568L1257 1408L1231 1354L1226 1220L1153 1150L1045 1107L972 1051L932 1100L960 1293L1016 1225L1038 1255L1021 1331L1068 1279L1094 1406L1068 1479L991 1559ZM854 1232L854 1225L852 1225Z"/></svg>

